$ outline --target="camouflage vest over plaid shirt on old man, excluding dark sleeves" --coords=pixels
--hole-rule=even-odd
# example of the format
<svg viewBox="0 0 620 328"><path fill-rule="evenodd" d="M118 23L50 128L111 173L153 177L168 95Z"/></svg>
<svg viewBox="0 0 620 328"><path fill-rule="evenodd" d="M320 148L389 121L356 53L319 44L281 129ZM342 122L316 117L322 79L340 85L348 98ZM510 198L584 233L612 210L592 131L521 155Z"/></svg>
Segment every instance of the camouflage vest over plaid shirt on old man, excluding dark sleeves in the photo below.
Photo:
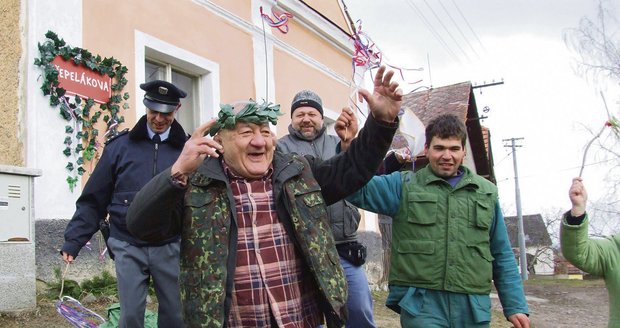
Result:
<svg viewBox="0 0 620 328"><path fill-rule="evenodd" d="M274 174L278 217L292 229L292 239L316 285L327 327L346 320L347 289L321 188L308 162L294 155L291 165L303 166L281 185ZM235 263L235 205L226 182L196 173L185 196L179 284L183 319L188 327L223 327L230 307ZM228 282L228 283L227 283Z"/></svg>

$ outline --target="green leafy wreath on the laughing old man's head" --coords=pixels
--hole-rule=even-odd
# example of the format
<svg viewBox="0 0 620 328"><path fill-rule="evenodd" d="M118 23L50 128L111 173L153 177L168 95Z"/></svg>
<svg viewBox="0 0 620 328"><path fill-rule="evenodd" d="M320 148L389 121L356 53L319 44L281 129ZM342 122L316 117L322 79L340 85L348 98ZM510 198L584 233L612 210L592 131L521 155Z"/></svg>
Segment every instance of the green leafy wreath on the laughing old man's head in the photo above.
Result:
<svg viewBox="0 0 620 328"><path fill-rule="evenodd" d="M237 122L254 124L270 122L276 125L278 124L278 116L280 115L282 115L282 112L280 112L280 105L268 103L266 101L258 104L256 101L250 99L245 107L236 114L233 105L222 104L220 105L217 122L209 129L209 135L214 136L221 129L232 130L235 128Z"/></svg>

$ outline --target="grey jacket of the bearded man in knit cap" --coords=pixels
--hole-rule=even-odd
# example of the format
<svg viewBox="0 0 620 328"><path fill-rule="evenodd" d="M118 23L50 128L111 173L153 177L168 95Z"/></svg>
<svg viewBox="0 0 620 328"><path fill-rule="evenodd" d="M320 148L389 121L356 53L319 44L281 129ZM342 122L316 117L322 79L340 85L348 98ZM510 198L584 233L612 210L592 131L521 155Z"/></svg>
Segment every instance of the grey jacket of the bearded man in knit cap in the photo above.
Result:
<svg viewBox="0 0 620 328"><path fill-rule="evenodd" d="M327 160L340 152L340 138L325 133L325 127L316 138L308 140L299 131L288 127L289 134L278 140L278 150L284 153L312 155ZM357 240L360 214L357 207L347 201L339 201L327 208L336 244Z"/></svg>

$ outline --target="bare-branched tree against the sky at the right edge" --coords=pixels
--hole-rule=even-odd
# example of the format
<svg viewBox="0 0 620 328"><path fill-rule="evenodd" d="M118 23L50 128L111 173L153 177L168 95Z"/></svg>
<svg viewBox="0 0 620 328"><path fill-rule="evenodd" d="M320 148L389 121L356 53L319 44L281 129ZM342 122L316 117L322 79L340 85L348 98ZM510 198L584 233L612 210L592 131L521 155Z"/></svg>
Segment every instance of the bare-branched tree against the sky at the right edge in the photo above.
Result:
<svg viewBox="0 0 620 328"><path fill-rule="evenodd" d="M584 16L579 21L578 27L569 28L564 32L566 45L578 54L577 73L600 87L603 100L605 100L603 86L607 82L614 82L617 88L620 82L620 24L617 15L620 7L618 6L617 1L599 0L596 18ZM607 170L606 194L601 199L591 199L588 204L590 232L598 236L620 233L620 128L617 125L620 115L614 115L618 108L607 108L607 103L618 102L605 101L609 119L605 124L609 129L602 127L602 124L600 127L589 129L595 136L593 141L596 141L593 143L595 147L592 158L595 163L604 163L601 169ZM612 122L616 125L612 125Z"/></svg>

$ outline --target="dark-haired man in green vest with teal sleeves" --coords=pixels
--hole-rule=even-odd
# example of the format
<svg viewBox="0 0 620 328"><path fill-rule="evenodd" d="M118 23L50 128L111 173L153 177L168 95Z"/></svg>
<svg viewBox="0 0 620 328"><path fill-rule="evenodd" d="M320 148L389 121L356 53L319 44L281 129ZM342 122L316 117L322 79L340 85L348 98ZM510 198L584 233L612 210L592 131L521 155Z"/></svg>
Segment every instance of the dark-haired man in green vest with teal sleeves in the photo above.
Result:
<svg viewBox="0 0 620 328"><path fill-rule="evenodd" d="M466 140L458 117L437 116L426 127L428 166L375 176L347 200L393 217L386 305L403 327L489 327L493 281L506 318L528 328L497 187L462 165Z"/></svg>

